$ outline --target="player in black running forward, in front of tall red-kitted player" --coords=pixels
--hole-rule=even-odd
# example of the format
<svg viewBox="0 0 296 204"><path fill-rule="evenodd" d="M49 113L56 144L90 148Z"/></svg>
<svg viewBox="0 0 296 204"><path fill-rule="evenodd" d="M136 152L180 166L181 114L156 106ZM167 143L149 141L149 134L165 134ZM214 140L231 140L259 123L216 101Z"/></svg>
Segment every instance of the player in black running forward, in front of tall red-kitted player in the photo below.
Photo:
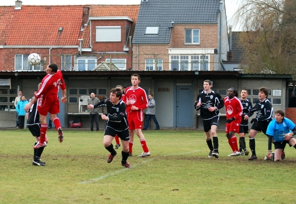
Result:
<svg viewBox="0 0 296 204"><path fill-rule="evenodd" d="M87 108L99 108L102 106L107 107L107 115L102 115L102 119L107 121L104 135L104 146L110 152L108 163L111 163L114 156L117 154L112 145L112 140L115 135L121 139L122 144L122 160L121 165L125 168L131 168L130 163L126 162L129 156L129 131L128 122L126 117L126 105L121 100L121 88L113 88L110 91L110 98L102 100L96 105L88 105Z"/></svg>

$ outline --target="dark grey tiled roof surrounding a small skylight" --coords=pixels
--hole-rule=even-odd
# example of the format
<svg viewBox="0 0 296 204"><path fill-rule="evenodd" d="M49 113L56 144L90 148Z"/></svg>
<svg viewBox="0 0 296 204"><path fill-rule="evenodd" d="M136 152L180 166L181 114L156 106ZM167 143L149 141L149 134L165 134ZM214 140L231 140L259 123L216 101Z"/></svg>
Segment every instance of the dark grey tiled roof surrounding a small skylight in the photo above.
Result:
<svg viewBox="0 0 296 204"><path fill-rule="evenodd" d="M218 24L219 0L147 0L141 2L134 44L168 44L174 24ZM145 35L146 26L159 26L158 35Z"/></svg>

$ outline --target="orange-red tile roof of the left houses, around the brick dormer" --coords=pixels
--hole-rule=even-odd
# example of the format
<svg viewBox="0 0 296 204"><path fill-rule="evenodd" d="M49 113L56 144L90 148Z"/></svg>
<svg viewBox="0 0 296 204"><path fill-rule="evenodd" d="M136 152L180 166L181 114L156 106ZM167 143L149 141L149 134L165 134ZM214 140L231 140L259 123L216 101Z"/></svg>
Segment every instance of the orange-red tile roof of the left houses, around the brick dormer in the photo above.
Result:
<svg viewBox="0 0 296 204"><path fill-rule="evenodd" d="M83 38L83 47L89 47L89 25L80 31L85 23L82 23L83 7L90 7L91 17L133 19L133 33L140 5L22 5L20 10L0 6L0 45L75 46Z"/></svg>

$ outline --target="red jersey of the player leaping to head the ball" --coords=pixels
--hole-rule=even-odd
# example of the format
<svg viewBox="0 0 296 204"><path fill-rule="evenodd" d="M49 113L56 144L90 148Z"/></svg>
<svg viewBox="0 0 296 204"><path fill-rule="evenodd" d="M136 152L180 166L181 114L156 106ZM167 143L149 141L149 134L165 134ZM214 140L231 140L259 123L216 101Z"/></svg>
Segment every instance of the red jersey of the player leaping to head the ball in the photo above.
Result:
<svg viewBox="0 0 296 204"><path fill-rule="evenodd" d="M42 79L41 83L38 92L35 94L36 98L40 98L42 95L56 95L59 91L59 87L61 87L62 90L66 89L61 70L58 70L55 74L47 74Z"/></svg>

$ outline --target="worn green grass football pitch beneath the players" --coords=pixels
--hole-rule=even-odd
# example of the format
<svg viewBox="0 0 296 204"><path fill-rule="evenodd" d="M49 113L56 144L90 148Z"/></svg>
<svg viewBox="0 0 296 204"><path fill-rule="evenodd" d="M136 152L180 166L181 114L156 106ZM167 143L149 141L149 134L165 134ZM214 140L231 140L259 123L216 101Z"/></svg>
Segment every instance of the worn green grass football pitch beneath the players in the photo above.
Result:
<svg viewBox="0 0 296 204"><path fill-rule="evenodd" d="M28 130L0 131L0 204L260 204L295 203L296 150L286 159L264 161L267 138L256 136L258 160L231 153L219 132L219 159L208 158L202 131L167 129L144 132L151 156L128 158L120 165L121 147L108 164L103 131L65 130L32 165L34 138ZM115 141L113 141L114 144ZM246 139L249 146L249 139ZM142 153L134 141L134 155Z"/></svg>

